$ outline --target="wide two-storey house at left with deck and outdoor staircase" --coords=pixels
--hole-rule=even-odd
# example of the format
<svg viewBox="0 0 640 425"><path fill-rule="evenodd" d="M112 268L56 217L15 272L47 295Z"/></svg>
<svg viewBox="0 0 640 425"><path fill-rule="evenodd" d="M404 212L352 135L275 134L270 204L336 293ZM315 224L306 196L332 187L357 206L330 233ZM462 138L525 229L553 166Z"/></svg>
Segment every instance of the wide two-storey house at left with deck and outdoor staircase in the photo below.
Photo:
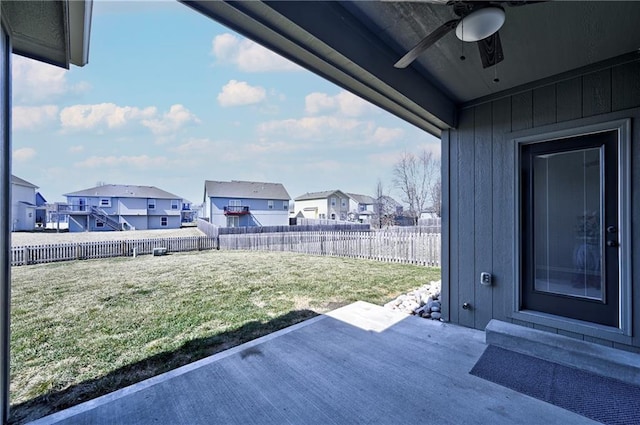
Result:
<svg viewBox="0 0 640 425"><path fill-rule="evenodd" d="M154 186L107 184L64 196L70 232L180 228L182 198Z"/></svg>

